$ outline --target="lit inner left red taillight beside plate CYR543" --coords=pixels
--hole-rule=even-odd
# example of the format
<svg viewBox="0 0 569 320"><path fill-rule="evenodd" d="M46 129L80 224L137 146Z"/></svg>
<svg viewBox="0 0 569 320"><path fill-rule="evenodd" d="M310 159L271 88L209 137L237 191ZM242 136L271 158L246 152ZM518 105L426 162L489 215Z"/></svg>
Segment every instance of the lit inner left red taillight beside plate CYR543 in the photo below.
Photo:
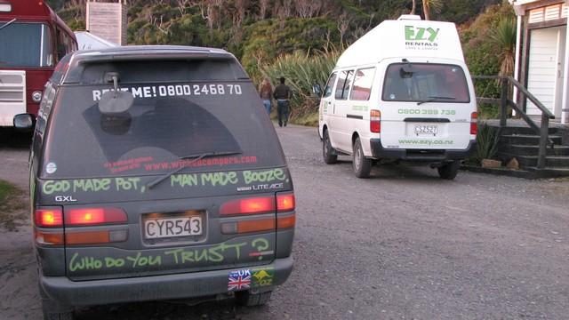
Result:
<svg viewBox="0 0 569 320"><path fill-rule="evenodd" d="M65 214L67 226L89 226L128 221L126 213L118 208L78 208Z"/></svg>

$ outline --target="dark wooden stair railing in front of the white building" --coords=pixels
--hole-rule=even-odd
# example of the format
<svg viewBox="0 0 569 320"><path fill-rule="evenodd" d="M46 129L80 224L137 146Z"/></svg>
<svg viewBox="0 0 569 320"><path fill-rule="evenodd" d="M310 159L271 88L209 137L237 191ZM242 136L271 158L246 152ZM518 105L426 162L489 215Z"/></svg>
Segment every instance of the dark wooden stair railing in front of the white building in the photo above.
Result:
<svg viewBox="0 0 569 320"><path fill-rule="evenodd" d="M543 106L540 100L537 100L535 96L528 92L524 85L518 83L516 79L511 76L472 76L473 80L478 79L490 79L500 81L501 83L501 97L500 99L493 98L483 98L477 97L477 101L480 103L490 103L498 104L500 106L500 129L506 127L508 119L508 107L516 110L517 115L525 120L525 123L530 126L540 136L540 150L538 154L537 167L538 169L545 168L545 156L547 156L547 146L548 142L553 146L553 141L549 139L549 119L555 119L555 116L549 111L548 108ZM532 101L535 107L541 110L541 125L538 125L533 121L530 116L525 114L522 108L519 108L516 102L508 99L508 89L509 84L512 84L517 88L523 98L527 98Z"/></svg>

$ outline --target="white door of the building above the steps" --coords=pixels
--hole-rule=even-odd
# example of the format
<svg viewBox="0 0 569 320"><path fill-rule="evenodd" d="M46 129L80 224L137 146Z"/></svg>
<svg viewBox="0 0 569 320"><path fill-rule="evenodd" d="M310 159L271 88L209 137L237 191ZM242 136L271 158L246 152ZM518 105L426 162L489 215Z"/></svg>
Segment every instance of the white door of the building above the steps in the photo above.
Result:
<svg viewBox="0 0 569 320"><path fill-rule="evenodd" d="M556 116L561 115L564 57L565 27L531 31L527 89ZM541 115L529 100L526 111L528 115Z"/></svg>

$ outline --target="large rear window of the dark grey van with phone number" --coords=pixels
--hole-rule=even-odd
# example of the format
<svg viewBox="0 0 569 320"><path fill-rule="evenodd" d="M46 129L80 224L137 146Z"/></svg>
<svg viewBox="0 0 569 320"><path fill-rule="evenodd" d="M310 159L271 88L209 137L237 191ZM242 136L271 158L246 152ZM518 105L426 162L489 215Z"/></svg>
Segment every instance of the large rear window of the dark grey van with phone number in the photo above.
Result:
<svg viewBox="0 0 569 320"><path fill-rule="evenodd" d="M134 103L101 113L110 85L64 85L48 124L40 177L141 176L284 165L276 133L251 81L119 84ZM206 153L227 156L184 156Z"/></svg>

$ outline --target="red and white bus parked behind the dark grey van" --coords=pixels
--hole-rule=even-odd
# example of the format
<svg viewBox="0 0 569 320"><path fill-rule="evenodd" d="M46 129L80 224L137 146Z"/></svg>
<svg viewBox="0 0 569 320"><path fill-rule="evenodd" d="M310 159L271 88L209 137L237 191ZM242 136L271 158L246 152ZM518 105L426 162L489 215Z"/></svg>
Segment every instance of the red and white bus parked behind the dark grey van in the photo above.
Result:
<svg viewBox="0 0 569 320"><path fill-rule="evenodd" d="M76 51L73 31L43 0L0 0L0 127L37 115L57 62Z"/></svg>

